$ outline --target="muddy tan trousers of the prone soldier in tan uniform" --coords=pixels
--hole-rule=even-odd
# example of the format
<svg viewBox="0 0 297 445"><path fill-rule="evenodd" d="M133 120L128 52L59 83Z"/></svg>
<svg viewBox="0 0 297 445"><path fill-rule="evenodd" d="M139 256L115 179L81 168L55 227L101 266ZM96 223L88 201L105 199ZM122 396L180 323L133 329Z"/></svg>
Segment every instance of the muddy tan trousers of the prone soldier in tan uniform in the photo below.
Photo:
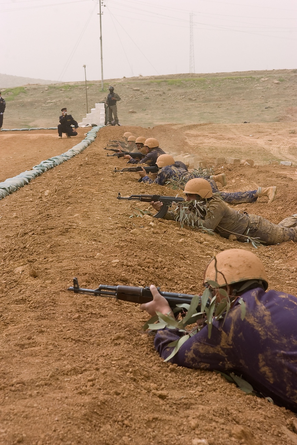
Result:
<svg viewBox="0 0 297 445"><path fill-rule="evenodd" d="M244 235L259 238L266 245L284 243L290 240L297 242L297 227L283 227L273 224L268 219L258 215L249 214L248 217L250 222Z"/></svg>

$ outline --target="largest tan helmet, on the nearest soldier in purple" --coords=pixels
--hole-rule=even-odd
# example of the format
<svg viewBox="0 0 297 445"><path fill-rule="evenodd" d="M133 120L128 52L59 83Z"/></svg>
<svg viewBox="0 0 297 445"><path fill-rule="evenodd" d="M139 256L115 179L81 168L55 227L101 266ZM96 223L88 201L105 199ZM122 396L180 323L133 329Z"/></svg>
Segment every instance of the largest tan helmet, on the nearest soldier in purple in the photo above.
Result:
<svg viewBox="0 0 297 445"><path fill-rule="evenodd" d="M219 286L226 286L253 279L261 280L264 289L267 289L268 278L262 261L254 253L244 249L229 249L219 252L208 263L203 284L212 280Z"/></svg>

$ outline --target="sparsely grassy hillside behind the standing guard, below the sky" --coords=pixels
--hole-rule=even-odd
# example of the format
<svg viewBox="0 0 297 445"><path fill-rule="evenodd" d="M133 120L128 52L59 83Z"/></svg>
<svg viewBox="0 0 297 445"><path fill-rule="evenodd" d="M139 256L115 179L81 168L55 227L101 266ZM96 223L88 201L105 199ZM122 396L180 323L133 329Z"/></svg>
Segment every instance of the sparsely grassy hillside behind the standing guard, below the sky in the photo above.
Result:
<svg viewBox="0 0 297 445"><path fill-rule="evenodd" d="M101 81L89 81L89 113L104 100L109 85L122 98L122 125L297 121L296 69L109 79L104 92ZM77 122L87 112L84 82L7 88L2 96L7 101L4 128L57 125L62 107L68 107Z"/></svg>

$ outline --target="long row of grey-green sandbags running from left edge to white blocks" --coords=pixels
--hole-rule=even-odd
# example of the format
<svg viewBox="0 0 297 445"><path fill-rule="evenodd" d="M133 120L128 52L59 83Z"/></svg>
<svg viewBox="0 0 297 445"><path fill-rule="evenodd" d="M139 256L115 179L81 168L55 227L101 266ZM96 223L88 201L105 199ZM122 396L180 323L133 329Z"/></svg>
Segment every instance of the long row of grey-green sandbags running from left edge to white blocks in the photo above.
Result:
<svg viewBox="0 0 297 445"><path fill-rule="evenodd" d="M13 178L8 178L5 181L0 182L0 199L5 198L5 196L15 192L20 187L24 187L31 181L31 179L36 178L45 171L62 164L62 162L68 161L77 154L80 154L96 139L97 132L103 126L104 125L93 127L86 134L85 139L83 139L81 142L79 142L77 145L75 145L65 153L62 153L59 156L53 156L53 158L46 159L45 161L41 161L41 163L37 166L34 166L32 170L26 170L18 174L17 176L14 176Z"/></svg>

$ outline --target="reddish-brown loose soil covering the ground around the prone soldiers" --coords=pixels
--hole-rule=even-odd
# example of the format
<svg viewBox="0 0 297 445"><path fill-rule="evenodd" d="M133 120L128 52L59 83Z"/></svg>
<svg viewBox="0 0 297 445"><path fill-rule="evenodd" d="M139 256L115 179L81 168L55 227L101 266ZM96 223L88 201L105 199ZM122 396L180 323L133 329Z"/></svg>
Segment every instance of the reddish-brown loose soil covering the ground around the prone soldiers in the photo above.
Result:
<svg viewBox="0 0 297 445"><path fill-rule="evenodd" d="M252 128L251 134L262 134L265 157L270 146L263 134L273 133L277 141L289 128L283 125ZM256 250L181 229L175 222L129 218L137 208L147 209L146 203L116 200L118 191L176 191L138 183L137 174L114 174L114 167L126 161L106 158L102 148L110 138L123 131L154 136L166 151L196 153L207 157L209 165L226 150L231 153L230 138L236 157L250 157L250 147L253 154L257 146L263 150L249 130L243 137L236 125L230 128L106 127L82 154L0 201L1 445L178 445L198 439L209 445L297 443L296 417L285 408L247 396L215 373L163 363L152 337L141 330L147 316L137 305L66 290L77 276L82 287L154 283L163 290L195 294L202 290L212 255L238 247L261 258L270 288L295 294L294 243ZM8 177L66 151L83 134L57 141L57 134L45 130L3 136ZM222 171L228 178L224 190L269 185L279 190L269 206L267 198L260 198L236 209L273 222L296 213L295 168L216 170ZM135 228L137 235L131 233Z"/></svg>

